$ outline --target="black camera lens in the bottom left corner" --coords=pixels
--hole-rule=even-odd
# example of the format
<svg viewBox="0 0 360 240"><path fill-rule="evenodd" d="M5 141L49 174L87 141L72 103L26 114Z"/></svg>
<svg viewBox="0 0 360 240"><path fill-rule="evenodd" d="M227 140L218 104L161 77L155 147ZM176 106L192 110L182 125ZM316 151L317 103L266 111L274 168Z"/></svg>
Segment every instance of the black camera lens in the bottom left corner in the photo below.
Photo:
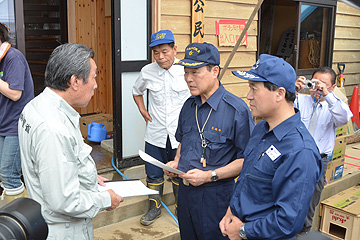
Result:
<svg viewBox="0 0 360 240"><path fill-rule="evenodd" d="M0 208L0 239L45 240L48 226L41 206L30 198L18 198Z"/></svg>

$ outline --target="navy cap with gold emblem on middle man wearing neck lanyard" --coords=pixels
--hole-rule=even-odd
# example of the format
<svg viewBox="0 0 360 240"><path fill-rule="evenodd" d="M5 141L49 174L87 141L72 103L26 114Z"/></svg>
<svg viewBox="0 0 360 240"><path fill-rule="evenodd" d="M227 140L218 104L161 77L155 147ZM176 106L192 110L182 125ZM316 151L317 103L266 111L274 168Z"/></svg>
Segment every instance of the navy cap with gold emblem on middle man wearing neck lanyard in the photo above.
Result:
<svg viewBox="0 0 360 240"><path fill-rule="evenodd" d="M185 58L175 64L187 68L200 68L209 64L220 65L220 53L211 43L190 43L185 48Z"/></svg>

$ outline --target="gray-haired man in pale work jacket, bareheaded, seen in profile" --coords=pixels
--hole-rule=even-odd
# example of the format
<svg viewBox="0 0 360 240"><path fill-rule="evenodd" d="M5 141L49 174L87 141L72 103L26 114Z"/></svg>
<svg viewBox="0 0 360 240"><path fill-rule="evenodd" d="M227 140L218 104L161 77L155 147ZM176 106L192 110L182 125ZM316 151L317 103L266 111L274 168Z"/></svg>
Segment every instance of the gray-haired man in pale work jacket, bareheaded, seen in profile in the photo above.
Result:
<svg viewBox="0 0 360 240"><path fill-rule="evenodd" d="M97 88L93 57L81 44L55 48L45 90L20 115L21 167L29 197L40 203L48 224L47 239L94 239L91 219L123 201L113 190L98 191L106 179L97 175L74 109L87 106Z"/></svg>

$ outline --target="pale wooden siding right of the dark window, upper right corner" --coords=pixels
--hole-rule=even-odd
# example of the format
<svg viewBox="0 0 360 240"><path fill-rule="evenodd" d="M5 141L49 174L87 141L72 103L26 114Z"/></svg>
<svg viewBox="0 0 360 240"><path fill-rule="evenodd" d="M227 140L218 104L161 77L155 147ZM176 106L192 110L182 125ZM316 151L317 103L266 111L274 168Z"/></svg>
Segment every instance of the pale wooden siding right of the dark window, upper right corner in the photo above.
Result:
<svg viewBox="0 0 360 240"><path fill-rule="evenodd" d="M336 73L339 62L345 63L345 90L350 103L360 82L360 10L341 1L337 3L332 66Z"/></svg>

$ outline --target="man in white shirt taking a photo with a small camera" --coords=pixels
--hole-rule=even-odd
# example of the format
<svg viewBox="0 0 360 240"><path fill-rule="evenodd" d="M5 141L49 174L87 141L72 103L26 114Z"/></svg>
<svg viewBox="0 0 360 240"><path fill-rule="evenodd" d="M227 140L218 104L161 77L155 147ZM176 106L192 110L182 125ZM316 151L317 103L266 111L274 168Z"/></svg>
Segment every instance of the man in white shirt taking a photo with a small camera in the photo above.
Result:
<svg viewBox="0 0 360 240"><path fill-rule="evenodd" d="M298 91L309 88L310 95L298 94L294 107L300 110L301 120L313 136L324 165L323 176L315 188L301 234L311 229L315 207L319 204L324 188L328 157L331 158L334 149L336 129L347 124L352 117L349 106L333 92L336 87L335 80L334 70L320 67L312 74L311 83L303 76L295 83Z"/></svg>

